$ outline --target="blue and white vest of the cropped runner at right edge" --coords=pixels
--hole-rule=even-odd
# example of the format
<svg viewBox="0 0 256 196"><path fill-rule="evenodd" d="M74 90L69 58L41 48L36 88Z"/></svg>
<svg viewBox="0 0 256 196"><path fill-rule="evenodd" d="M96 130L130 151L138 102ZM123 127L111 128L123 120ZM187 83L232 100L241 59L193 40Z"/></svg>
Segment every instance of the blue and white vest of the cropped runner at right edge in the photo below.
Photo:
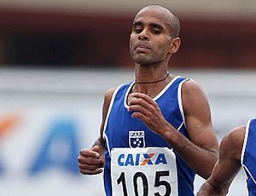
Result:
<svg viewBox="0 0 256 196"><path fill-rule="evenodd" d="M247 175L249 196L256 195L256 118L247 122L246 134L241 152L241 164Z"/></svg>

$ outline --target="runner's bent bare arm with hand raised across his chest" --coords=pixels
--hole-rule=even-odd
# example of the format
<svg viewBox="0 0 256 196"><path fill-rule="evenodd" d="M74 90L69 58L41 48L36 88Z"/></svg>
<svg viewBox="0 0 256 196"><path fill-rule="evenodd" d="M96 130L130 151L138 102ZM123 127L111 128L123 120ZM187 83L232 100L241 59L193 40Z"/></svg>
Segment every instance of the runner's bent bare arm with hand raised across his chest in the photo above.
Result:
<svg viewBox="0 0 256 196"><path fill-rule="evenodd" d="M183 84L182 98L185 121L191 141L179 133L163 117L157 103L148 95L134 93L129 110L135 111L154 133L161 135L200 176L207 178L218 159L218 140L212 129L206 96L194 81Z"/></svg>

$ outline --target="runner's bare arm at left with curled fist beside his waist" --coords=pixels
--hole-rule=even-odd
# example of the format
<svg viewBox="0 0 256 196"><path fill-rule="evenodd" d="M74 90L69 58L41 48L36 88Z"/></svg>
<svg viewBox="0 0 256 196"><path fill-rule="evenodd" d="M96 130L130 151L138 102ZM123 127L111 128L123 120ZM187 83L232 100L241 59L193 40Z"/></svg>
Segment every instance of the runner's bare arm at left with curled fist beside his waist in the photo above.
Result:
<svg viewBox="0 0 256 196"><path fill-rule="evenodd" d="M102 173L102 167L105 163L105 140L103 138L103 129L108 114L108 107L113 95L114 89L108 90L105 95L102 108L102 124L100 136L90 149L80 150L78 158L80 172L84 175L96 175Z"/></svg>

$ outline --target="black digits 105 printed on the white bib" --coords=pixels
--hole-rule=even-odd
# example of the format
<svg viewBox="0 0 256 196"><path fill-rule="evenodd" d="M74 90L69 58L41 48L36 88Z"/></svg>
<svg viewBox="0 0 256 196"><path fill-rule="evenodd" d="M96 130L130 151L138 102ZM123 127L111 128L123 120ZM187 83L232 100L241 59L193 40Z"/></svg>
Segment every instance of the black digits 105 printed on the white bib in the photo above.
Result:
<svg viewBox="0 0 256 196"><path fill-rule="evenodd" d="M160 194L159 192L155 192L154 196L170 196L172 193L172 187L169 182L161 180L161 176L170 176L169 170L156 171L154 177L154 187L164 186L166 187L166 193ZM138 181L141 181L143 184L143 195L139 195L138 193ZM125 182L125 172L121 172L119 178L117 179L117 184L122 186L124 196L128 196L127 187ZM143 172L137 172L133 176L133 189L135 196L148 196L148 179Z"/></svg>

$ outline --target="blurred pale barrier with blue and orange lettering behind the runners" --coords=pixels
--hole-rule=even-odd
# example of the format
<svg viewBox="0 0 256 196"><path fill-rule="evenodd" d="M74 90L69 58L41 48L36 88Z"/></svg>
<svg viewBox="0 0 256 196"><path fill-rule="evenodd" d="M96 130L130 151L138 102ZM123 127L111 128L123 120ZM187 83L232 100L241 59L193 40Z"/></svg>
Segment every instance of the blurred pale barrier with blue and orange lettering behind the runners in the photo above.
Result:
<svg viewBox="0 0 256 196"><path fill-rule="evenodd" d="M254 72L177 73L201 84L219 140L256 117ZM130 70L0 70L0 194L104 195L102 175L79 175L76 159L98 136L105 91L132 79ZM230 195L246 194L243 177Z"/></svg>

